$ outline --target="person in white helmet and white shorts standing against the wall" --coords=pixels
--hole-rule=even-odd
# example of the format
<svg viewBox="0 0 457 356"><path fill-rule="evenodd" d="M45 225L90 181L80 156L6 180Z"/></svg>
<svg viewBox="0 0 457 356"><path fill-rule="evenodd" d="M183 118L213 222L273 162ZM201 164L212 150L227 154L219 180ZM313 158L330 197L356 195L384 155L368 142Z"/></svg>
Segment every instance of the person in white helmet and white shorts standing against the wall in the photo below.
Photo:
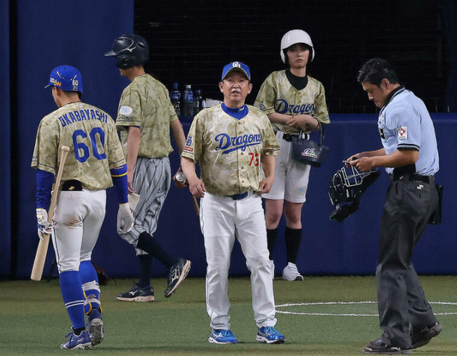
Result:
<svg viewBox="0 0 457 356"><path fill-rule="evenodd" d="M281 59L287 70L273 72L259 90L255 106L269 117L281 153L276 159L273 187L265 198L265 220L270 265L274 275L273 249L281 216L285 216L285 246L288 264L283 279L303 280L297 270L297 255L302 241L302 207L306 200L310 166L292 159L292 136L300 131L318 131L319 124L329 124L323 85L307 75L307 65L314 59L311 37L301 29L292 29L281 39Z"/></svg>

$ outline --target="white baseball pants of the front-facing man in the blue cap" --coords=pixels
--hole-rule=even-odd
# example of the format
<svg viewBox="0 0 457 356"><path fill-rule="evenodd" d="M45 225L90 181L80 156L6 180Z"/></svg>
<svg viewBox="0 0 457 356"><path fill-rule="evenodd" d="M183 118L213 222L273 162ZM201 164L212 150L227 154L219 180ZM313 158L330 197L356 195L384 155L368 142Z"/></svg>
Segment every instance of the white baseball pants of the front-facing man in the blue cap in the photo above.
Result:
<svg viewBox="0 0 457 356"><path fill-rule="evenodd" d="M273 276L260 195L251 192L245 199L233 200L205 192L200 202L200 227L205 237L206 305L212 329L230 329L228 268L235 237L251 272L252 309L257 327L273 327Z"/></svg>

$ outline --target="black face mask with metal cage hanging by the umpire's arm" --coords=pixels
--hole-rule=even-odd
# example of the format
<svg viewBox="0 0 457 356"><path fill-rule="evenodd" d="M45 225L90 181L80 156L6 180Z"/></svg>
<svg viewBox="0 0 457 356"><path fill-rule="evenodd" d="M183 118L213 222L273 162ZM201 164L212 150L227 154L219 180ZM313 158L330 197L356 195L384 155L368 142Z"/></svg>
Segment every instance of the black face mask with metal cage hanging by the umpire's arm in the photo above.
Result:
<svg viewBox="0 0 457 356"><path fill-rule="evenodd" d="M339 169L328 185L330 202L336 206L335 211L330 214L330 220L341 222L355 213L359 209L361 196L379 176L378 169L368 172L360 172L354 166L343 166L342 169Z"/></svg>

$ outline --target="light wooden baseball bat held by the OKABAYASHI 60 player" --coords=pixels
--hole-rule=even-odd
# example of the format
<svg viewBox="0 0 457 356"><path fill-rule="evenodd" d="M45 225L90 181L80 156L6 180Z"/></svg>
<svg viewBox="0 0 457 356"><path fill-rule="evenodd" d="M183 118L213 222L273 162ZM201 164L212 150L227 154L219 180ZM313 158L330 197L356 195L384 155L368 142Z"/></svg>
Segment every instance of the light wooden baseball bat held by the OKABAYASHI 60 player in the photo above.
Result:
<svg viewBox="0 0 457 356"><path fill-rule="evenodd" d="M60 180L62 179L63 166L65 165L65 159L67 159L68 151L70 147L62 146L62 155L60 157L60 166L57 172L56 184L54 185L54 191L51 197L51 204L49 205L48 211L48 221L52 223L52 218L54 215L54 209L56 208L57 195L60 185ZM39 240L37 253L35 254L35 260L33 261L32 273L30 274L30 279L32 281L40 281L41 275L43 275L44 262L46 261L46 254L48 253L49 246L49 235L45 234L43 240Z"/></svg>

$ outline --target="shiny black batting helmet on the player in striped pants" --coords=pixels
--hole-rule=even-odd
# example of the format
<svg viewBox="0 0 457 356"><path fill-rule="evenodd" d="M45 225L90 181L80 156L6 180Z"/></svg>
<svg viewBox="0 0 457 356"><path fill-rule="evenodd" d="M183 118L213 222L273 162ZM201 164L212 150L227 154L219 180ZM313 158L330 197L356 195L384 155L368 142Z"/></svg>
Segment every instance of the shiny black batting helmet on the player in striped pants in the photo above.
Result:
<svg viewBox="0 0 457 356"><path fill-rule="evenodd" d="M148 41L139 34L123 34L112 44L112 51L105 56L115 57L116 66L124 70L142 65L149 59Z"/></svg>

